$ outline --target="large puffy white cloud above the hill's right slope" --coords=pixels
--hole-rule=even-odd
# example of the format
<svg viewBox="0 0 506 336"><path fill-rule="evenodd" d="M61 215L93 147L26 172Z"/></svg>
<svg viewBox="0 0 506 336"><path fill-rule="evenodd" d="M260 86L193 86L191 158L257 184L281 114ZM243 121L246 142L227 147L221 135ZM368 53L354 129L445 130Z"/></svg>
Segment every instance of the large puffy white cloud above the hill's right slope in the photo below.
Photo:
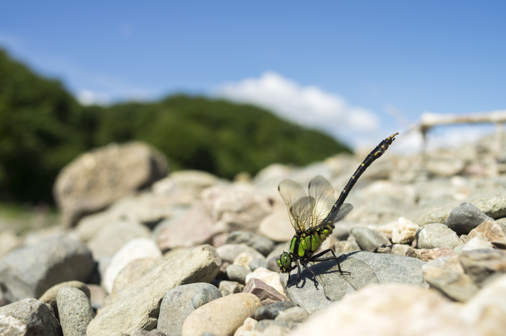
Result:
<svg viewBox="0 0 506 336"><path fill-rule="evenodd" d="M342 138L377 131L379 118L366 108L350 106L346 100L316 86L303 87L276 72L265 72L259 78L227 83L215 90L218 96L236 102L251 103L270 109L279 116L306 127L326 131Z"/></svg>

